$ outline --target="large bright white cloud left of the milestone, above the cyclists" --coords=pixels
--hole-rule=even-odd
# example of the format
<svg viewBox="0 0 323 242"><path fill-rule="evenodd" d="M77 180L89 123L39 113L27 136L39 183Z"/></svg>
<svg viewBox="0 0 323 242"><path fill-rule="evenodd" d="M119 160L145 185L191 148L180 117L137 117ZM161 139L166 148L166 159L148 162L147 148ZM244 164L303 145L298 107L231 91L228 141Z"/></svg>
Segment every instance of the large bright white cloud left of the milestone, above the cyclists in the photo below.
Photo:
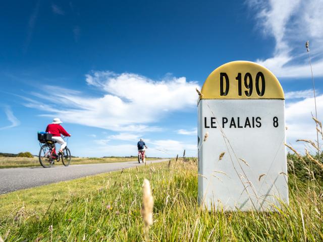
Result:
<svg viewBox="0 0 323 242"><path fill-rule="evenodd" d="M154 81L132 73L92 72L86 75L86 82L103 94L90 97L75 90L45 86L43 95L32 93L34 98L24 98L24 105L67 123L141 133L160 131L154 124L172 112L192 110L197 100L195 88L199 88L185 77ZM60 100L59 105L56 100Z"/></svg>

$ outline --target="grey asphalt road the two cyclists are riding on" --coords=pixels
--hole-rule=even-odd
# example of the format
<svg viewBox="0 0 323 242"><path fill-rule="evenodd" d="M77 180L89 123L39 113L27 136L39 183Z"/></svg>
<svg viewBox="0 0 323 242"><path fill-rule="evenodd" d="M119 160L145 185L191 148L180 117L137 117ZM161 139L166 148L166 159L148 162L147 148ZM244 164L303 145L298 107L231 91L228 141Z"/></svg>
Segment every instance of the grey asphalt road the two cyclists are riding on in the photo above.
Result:
<svg viewBox="0 0 323 242"><path fill-rule="evenodd" d="M157 163L169 159L147 161L147 163ZM0 169L0 194L10 193L13 191L38 187L46 184L57 183L63 180L72 180L75 178L95 175L122 168L135 167L139 164L137 161L85 164L70 166L53 166L50 168L43 167L24 167L24 168L5 168Z"/></svg>

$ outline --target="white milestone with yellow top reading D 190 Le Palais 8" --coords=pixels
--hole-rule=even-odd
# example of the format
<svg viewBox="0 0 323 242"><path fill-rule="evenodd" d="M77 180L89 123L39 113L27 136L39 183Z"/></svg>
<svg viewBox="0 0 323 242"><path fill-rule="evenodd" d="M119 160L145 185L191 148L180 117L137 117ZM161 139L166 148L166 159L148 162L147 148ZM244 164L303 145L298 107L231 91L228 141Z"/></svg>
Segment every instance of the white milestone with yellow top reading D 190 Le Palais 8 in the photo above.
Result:
<svg viewBox="0 0 323 242"><path fill-rule="evenodd" d="M199 203L227 211L288 203L285 141L285 97L274 74L245 61L214 70L198 101Z"/></svg>

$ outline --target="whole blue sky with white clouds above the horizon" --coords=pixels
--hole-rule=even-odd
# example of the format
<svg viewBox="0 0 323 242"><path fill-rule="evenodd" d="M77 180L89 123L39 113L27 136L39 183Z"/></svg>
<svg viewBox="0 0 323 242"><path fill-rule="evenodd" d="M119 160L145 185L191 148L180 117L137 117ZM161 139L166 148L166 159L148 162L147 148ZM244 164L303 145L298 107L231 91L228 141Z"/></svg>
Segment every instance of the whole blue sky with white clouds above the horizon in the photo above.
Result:
<svg viewBox="0 0 323 242"><path fill-rule="evenodd" d="M323 117L323 7L301 1L11 1L0 14L0 152L37 154L60 117L74 155L196 155L195 87L257 62L286 94L288 143L315 138L310 40ZM321 118L322 119L322 118Z"/></svg>

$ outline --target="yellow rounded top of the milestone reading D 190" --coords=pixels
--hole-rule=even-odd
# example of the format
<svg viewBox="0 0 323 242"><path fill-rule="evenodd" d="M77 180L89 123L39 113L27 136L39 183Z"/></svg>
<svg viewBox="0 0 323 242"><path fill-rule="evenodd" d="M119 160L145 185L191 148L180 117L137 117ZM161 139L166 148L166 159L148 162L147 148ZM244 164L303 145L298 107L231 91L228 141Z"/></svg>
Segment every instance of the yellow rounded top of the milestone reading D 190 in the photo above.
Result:
<svg viewBox="0 0 323 242"><path fill-rule="evenodd" d="M200 99L285 99L275 75L253 62L218 67L205 80Z"/></svg>

